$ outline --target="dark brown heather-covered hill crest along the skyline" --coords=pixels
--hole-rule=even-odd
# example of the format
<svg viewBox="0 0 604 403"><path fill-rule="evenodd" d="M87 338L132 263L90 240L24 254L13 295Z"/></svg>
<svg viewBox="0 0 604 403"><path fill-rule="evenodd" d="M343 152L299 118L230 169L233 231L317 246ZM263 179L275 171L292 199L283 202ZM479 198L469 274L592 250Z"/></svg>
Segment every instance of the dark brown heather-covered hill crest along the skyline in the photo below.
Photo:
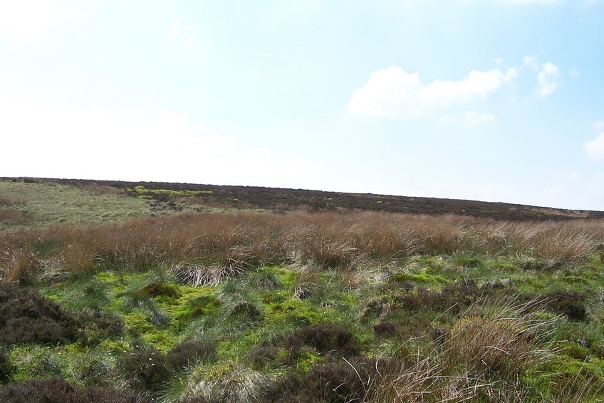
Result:
<svg viewBox="0 0 604 403"><path fill-rule="evenodd" d="M341 193L323 190L264 188L257 186L202 185L193 183L130 182L120 180L82 180L56 178L1 178L42 183L61 183L90 187L115 188L130 195L145 195L160 201L212 205L222 208L257 208L286 212L290 210L370 210L388 213L425 215L467 215L495 220L568 220L573 218L604 218L603 211L566 210L520 205L442 198L375 195L372 193Z"/></svg>

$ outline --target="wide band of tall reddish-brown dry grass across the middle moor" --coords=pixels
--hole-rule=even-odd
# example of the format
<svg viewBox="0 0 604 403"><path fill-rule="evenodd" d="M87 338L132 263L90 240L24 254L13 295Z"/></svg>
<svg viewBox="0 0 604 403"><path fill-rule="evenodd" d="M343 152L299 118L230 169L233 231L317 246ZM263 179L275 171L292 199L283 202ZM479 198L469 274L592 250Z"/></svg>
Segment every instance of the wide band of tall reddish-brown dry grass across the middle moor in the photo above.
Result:
<svg viewBox="0 0 604 403"><path fill-rule="evenodd" d="M367 262L390 265L412 255L456 253L577 263L603 242L604 223L598 220L509 223L363 212L187 213L92 229L56 226L4 233L0 246L11 257L5 256L0 267L4 272L7 265L22 267L13 256L24 250L84 272L100 265L147 270L181 262L233 270L299 262L350 270Z"/></svg>

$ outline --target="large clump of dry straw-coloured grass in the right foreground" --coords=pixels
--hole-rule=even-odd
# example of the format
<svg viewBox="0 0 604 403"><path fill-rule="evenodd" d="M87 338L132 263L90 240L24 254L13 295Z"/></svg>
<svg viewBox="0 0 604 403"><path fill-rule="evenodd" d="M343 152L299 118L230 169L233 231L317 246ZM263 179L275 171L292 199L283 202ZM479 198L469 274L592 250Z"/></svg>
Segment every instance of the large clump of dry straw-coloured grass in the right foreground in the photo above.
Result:
<svg viewBox="0 0 604 403"><path fill-rule="evenodd" d="M551 356L546 342L553 323L531 302L479 300L449 325L441 342L409 340L397 356L397 372L380 372L367 382L367 402L525 402L531 388L520 381ZM578 401L582 390L567 397Z"/></svg>

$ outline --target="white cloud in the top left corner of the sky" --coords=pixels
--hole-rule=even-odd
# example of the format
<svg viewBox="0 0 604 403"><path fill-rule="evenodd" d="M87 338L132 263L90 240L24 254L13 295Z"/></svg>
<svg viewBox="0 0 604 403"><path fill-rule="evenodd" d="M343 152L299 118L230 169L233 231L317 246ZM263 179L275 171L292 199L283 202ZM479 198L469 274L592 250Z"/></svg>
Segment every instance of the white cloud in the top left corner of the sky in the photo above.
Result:
<svg viewBox="0 0 604 403"><path fill-rule="evenodd" d="M74 1L19 0L0 2L0 31L26 44L41 44L53 29L82 19Z"/></svg>

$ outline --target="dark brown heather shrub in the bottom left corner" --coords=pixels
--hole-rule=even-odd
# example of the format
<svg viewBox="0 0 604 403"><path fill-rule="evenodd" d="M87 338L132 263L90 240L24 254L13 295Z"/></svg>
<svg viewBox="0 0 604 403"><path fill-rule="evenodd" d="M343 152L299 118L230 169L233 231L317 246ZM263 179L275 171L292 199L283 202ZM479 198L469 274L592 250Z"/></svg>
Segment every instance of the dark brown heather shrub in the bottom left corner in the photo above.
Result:
<svg viewBox="0 0 604 403"><path fill-rule="evenodd" d="M0 387L3 403L142 403L145 399L109 387L73 387L65 379L34 379Z"/></svg>

